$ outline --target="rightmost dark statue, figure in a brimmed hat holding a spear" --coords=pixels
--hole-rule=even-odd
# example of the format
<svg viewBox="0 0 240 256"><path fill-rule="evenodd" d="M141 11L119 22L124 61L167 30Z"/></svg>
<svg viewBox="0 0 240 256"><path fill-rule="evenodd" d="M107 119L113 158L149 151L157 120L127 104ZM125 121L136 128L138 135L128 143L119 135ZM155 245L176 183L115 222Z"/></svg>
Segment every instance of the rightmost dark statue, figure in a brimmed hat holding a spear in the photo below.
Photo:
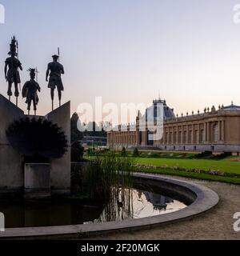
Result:
<svg viewBox="0 0 240 256"><path fill-rule="evenodd" d="M56 87L58 90L59 106L61 106L62 91L64 90L61 75L64 74L64 67L58 62L58 55L53 55L52 58L53 62L50 62L47 66L46 82L48 82L48 77L50 76L48 88L51 90L52 109L54 110L54 90Z"/></svg>

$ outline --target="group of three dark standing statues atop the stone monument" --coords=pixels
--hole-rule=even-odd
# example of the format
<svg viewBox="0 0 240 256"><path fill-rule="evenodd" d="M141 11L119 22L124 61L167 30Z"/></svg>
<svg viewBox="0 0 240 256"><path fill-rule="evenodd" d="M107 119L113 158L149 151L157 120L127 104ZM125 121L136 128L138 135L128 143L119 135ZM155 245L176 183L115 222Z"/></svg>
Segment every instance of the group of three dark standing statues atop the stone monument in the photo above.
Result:
<svg viewBox="0 0 240 256"><path fill-rule="evenodd" d="M22 71L22 63L19 61L18 57L18 41L15 37L12 38L10 43L10 55L5 61L5 78L8 82L7 95L9 100L12 93L12 85L14 84L14 96L16 97L16 105L18 106L19 90L21 91L21 78L19 70ZM54 110L54 90L58 90L59 106L61 106L62 91L64 90L62 84L62 74L64 74L64 67L59 63L59 48L58 55L53 55L53 62L50 62L46 70L46 82L48 82L48 88L50 88L50 96L52 100L52 110ZM30 72L30 81L27 81L22 88L22 98L26 98L28 114L30 114L31 103L34 105L34 114L36 115L38 106L38 92L41 88L38 84L38 79L35 81L36 75L38 74L37 69L30 68L27 70ZM19 89L18 89L19 85Z"/></svg>

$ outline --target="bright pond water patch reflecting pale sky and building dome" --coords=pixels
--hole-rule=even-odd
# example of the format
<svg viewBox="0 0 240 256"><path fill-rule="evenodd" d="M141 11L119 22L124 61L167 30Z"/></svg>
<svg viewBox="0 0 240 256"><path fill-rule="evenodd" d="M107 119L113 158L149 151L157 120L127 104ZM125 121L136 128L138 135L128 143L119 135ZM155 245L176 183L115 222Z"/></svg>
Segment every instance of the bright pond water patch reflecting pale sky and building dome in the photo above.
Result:
<svg viewBox="0 0 240 256"><path fill-rule="evenodd" d="M186 204L154 192L144 190L113 189L110 202L94 222L115 222L146 218L186 208ZM89 223L89 222L85 222Z"/></svg>

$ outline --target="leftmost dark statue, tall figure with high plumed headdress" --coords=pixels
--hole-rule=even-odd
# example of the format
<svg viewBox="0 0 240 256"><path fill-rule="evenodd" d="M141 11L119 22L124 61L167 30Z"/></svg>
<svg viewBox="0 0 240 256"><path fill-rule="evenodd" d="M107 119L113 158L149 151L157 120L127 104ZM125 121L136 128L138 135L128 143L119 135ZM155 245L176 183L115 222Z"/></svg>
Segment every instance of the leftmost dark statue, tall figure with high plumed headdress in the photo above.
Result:
<svg viewBox="0 0 240 256"><path fill-rule="evenodd" d="M5 78L8 82L8 90L7 95L9 96L9 100L12 93L12 85L14 83L15 86L15 97L16 97L16 105L18 106L18 97L19 97L19 90L18 90L18 84L21 83L19 69L22 70L22 64L18 60L18 41L15 37L12 38L12 41L10 43L10 52L8 53L10 55L10 58L6 58L5 61ZM17 58L16 58L17 57Z"/></svg>

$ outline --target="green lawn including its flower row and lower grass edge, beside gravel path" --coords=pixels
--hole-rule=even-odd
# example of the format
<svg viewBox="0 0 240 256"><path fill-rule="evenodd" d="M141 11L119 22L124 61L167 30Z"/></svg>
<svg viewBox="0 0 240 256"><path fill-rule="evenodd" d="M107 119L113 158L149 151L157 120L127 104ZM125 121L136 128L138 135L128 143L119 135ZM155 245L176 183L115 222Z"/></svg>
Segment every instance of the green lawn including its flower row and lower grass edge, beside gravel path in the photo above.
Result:
<svg viewBox="0 0 240 256"><path fill-rule="evenodd" d="M166 158L134 158L134 164L140 165L138 167L136 166L136 172L166 174L240 185L240 162L238 161L239 158L235 157L213 160L196 158L169 158L169 155L166 155ZM154 166L154 168L151 166ZM178 169L176 169L176 167L178 167ZM224 176L221 174L212 173L208 174L208 172L213 170L219 173L225 173L226 175Z"/></svg>

